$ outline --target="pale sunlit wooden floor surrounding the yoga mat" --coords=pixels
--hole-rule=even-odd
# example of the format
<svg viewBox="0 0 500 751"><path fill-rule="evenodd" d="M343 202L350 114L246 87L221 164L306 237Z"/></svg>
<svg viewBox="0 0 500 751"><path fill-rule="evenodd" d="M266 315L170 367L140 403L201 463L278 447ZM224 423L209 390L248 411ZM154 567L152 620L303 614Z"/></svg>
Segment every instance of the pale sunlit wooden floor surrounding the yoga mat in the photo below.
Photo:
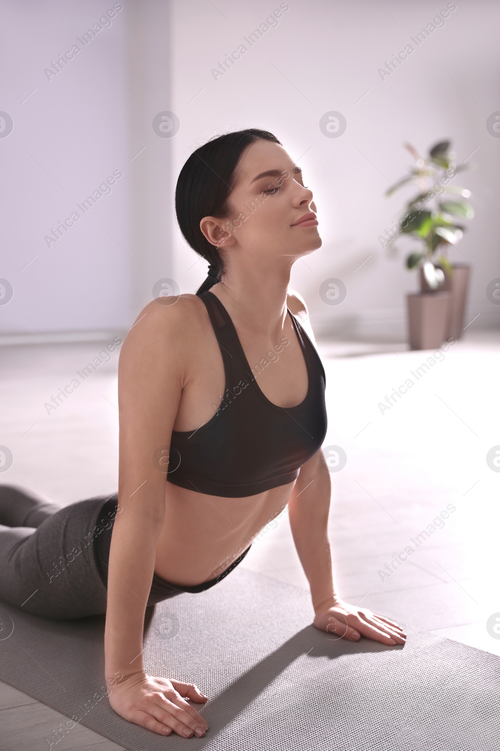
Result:
<svg viewBox="0 0 500 751"><path fill-rule="evenodd" d="M61 505L115 490L116 358L51 415L43 408L100 348L98 342L58 345L57 351L50 345L2 348L0 392L8 408L1 442L15 457L2 482L24 482ZM382 414L379 402L429 355L391 348L319 345L327 374L324 445L340 445L348 457L345 469L332 474L329 533L338 590L349 602L500 655L500 640L485 628L487 617L500 611L500 475L485 461L500 443L494 398L500 337L471 333ZM310 493L313 503L312 487ZM385 563L450 503L456 511L445 526L382 581ZM307 589L287 515L271 526L241 566ZM66 720L0 682L0 751L121 748L82 725L55 744Z"/></svg>

